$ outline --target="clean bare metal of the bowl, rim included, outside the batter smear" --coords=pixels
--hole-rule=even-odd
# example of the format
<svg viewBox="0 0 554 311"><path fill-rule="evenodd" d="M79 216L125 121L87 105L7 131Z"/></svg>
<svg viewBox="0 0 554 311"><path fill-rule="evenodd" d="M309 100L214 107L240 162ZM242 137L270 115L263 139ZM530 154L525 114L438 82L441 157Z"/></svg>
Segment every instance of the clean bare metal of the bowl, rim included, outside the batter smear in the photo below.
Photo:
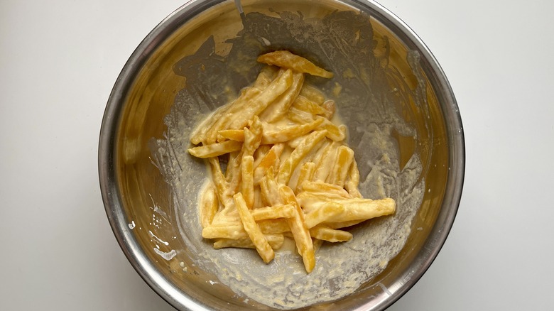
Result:
<svg viewBox="0 0 554 311"><path fill-rule="evenodd" d="M386 55L384 66L398 72L391 75L386 87L408 87L415 94L398 109L417 135L398 135L397 143L403 164L412 153L418 153L424 168L421 178L429 191L411 221L406 246L384 271L352 295L312 307L383 310L425 273L455 219L465 150L452 89L415 33L374 2L242 1L242 6L246 13L268 15L301 11L304 18L318 18L335 10L369 14L376 42L373 52L378 59ZM102 122L99 177L116 239L146 283L180 310L271 310L252 301L245 304L244 298L227 286L208 281L217 275L195 265L195 253L180 238L170 189L153 165L149 148L152 138L163 138L163 118L186 84L183 77L175 75L175 63L194 54L212 35L215 52L228 53L227 40L237 36L242 25L234 1L190 1L172 13L131 55L112 90Z"/></svg>

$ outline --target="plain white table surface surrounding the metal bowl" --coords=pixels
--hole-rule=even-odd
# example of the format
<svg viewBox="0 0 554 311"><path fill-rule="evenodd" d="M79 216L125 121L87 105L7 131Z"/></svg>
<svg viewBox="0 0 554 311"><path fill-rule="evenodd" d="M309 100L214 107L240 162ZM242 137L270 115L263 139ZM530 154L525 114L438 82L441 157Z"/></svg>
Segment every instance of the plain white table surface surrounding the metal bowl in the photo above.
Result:
<svg viewBox="0 0 554 311"><path fill-rule="evenodd" d="M173 310L107 222L97 143L134 48L183 1L0 0L0 310ZM554 1L382 0L464 123L462 203L389 310L547 310L554 288Z"/></svg>

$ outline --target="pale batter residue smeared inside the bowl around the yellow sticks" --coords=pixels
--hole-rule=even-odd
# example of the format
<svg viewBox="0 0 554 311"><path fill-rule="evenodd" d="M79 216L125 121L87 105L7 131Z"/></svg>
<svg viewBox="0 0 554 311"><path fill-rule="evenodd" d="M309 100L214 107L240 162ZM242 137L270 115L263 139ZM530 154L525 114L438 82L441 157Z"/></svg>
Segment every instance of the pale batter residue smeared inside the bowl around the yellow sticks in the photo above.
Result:
<svg viewBox="0 0 554 311"><path fill-rule="evenodd" d="M190 256L195 256L197 267L217 275L217 281L244 296L245 303L255 300L292 309L344 298L379 275L401 251L423 199L425 180L420 178L423 167L418 153L400 163L394 138L417 135L396 110L396 101L413 94L395 96L391 91L386 68L371 53L375 43L369 17L359 13L337 11L322 19L289 12L279 16L248 13L244 30L229 43L233 45L229 55L217 55L210 38L195 55L175 64L175 73L186 77L187 85L165 117L165 138L151 144L156 165L173 193L175 221L183 243ZM362 177L362 195L393 197L397 202L393 216L352 227L351 241L323 244L310 274L305 273L293 248L278 251L266 265L256 251L216 250L203 240L197 195L208 174L202 161L187 152L196 124L226 103L230 94L254 81L260 66L256 56L278 49L292 50L335 72L329 82L307 81L324 89L347 121L349 146Z"/></svg>

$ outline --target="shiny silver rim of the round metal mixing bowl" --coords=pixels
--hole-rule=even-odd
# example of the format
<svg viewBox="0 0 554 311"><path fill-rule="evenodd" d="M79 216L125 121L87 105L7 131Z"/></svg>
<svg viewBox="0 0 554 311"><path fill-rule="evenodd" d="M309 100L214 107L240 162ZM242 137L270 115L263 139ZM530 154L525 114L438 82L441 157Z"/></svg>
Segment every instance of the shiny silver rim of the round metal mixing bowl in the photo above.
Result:
<svg viewBox="0 0 554 311"><path fill-rule="evenodd" d="M228 0L188 1L183 6L170 13L153 30L148 33L138 47L127 60L119 76L116 79L112 92L109 95L102 125L99 133L98 146L98 171L99 184L109 224L114 236L124 252L131 266L143 278L143 280L173 307L180 310L209 310L202 302L195 300L188 293L180 290L171 283L156 266L141 253L139 241L129 230L126 215L121 204L121 193L117 185L115 161L116 161L116 136L119 131L123 103L126 95L132 87L134 77L139 73L146 60L156 51L175 28L190 21L197 14L202 13L212 6ZM421 61L427 62L438 86L438 95L444 95L440 102L442 114L445 116L445 127L449 138L449 170L447 185L440 212L433 229L430 230L418 254L413 259L408 269L401 274L401 278L395 281L393 287L389 287L388 296L360 305L358 310L384 310L393 305L398 299L410 290L415 283L428 271L431 263L435 261L438 253L445 244L448 234L452 229L457 210L460 206L462 189L465 176L465 137L462 127L460 110L458 109L454 92L447 80L445 72L440 67L433 53L423 43L423 40L401 18L394 15L381 4L372 0L343 0L345 4L356 8L365 8L372 18L378 21L386 21L387 27L393 26L402 34L403 40L407 40L417 48ZM428 74L428 72L426 72ZM431 77L429 77L431 78ZM444 104L443 104L444 103ZM445 208L448 207L448 208ZM415 269L414 267L415 266Z"/></svg>

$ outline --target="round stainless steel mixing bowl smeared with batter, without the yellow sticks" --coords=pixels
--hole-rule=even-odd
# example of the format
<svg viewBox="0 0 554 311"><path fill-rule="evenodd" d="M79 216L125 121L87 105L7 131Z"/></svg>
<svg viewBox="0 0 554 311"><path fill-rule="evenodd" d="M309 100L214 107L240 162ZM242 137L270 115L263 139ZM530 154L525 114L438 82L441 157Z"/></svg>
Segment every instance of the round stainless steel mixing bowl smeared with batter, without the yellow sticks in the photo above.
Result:
<svg viewBox="0 0 554 311"><path fill-rule="evenodd" d="M102 197L116 239L146 283L180 310L384 310L429 268L460 202L464 137L447 78L418 36L374 2L235 2L189 1L148 34L121 71L99 140ZM185 219L196 215L195 191L205 171L186 154L172 155L173 147L188 144L186 133L196 121L252 81L256 56L278 48L335 72L333 80L310 83L337 100L359 157L361 190L391 195L401 210L391 217L391 239L379 244L396 243L396 250L374 273L362 271L365 279L347 294L330 290L304 305L237 292L226 273L210 268L211 246L198 238L200 224ZM190 97L202 104L191 105ZM372 140L378 132L386 139ZM384 149L392 156L384 157ZM164 163L180 171L169 172ZM378 163L385 165L379 172ZM389 224L354 228L354 240L368 226ZM359 256L374 260L369 246L377 244L360 245L368 248ZM224 260L217 256L212 261ZM263 265L245 258L237 271ZM297 268L286 267L291 273ZM348 280L354 273L345 274Z"/></svg>

